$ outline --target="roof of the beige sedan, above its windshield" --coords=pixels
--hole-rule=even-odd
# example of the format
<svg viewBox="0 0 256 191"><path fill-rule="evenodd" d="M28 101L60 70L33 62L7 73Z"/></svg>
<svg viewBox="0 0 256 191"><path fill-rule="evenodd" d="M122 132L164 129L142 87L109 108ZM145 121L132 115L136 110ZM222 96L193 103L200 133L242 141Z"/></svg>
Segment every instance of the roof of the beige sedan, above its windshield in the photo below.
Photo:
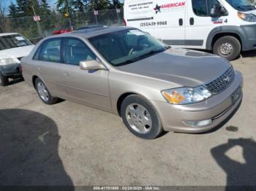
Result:
<svg viewBox="0 0 256 191"><path fill-rule="evenodd" d="M106 27L99 27L99 28L86 28L79 31L72 31L71 33L67 33L67 34L59 34L58 36L81 36L85 39L88 39L93 36L99 36L102 34L108 34L116 31L123 31L125 29L131 29L131 28L132 27L127 27L127 26L106 26Z"/></svg>

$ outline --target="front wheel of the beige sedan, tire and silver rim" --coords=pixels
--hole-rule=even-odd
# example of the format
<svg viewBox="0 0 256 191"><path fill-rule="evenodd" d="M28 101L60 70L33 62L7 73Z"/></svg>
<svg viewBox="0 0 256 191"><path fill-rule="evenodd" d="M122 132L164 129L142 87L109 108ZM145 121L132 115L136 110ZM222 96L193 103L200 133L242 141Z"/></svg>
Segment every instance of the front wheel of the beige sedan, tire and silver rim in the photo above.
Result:
<svg viewBox="0 0 256 191"><path fill-rule="evenodd" d="M128 130L141 139L155 139L162 133L157 111L140 95L129 95L124 99L121 103L121 117Z"/></svg>

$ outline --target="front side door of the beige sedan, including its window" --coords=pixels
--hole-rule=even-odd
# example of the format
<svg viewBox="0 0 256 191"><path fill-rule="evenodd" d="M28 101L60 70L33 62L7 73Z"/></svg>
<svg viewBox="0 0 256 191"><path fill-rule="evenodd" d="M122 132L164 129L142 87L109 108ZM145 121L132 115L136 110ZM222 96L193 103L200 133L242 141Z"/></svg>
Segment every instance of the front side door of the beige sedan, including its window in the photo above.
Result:
<svg viewBox="0 0 256 191"><path fill-rule="evenodd" d="M111 110L108 70L81 70L80 61L96 60L87 45L77 38L64 38L64 84L72 101ZM100 64L100 63L99 63Z"/></svg>

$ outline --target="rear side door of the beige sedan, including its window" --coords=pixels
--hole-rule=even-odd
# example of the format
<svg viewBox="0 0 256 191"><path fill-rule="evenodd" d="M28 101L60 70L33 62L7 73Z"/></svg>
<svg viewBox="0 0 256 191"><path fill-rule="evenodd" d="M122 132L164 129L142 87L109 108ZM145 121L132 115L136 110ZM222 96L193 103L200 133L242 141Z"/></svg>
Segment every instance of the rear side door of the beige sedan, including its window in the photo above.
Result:
<svg viewBox="0 0 256 191"><path fill-rule="evenodd" d="M61 70L61 38L48 39L37 49L34 56L39 77L45 82L52 95L64 98L67 94Z"/></svg>

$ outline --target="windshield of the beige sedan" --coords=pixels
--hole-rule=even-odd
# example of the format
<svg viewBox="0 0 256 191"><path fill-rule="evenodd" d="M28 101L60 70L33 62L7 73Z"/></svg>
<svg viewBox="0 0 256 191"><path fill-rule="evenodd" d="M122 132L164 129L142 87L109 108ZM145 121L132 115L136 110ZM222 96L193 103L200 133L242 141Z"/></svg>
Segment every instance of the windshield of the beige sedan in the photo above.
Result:
<svg viewBox="0 0 256 191"><path fill-rule="evenodd" d="M89 42L113 66L139 61L168 48L159 40L138 29L94 36L89 38Z"/></svg>

